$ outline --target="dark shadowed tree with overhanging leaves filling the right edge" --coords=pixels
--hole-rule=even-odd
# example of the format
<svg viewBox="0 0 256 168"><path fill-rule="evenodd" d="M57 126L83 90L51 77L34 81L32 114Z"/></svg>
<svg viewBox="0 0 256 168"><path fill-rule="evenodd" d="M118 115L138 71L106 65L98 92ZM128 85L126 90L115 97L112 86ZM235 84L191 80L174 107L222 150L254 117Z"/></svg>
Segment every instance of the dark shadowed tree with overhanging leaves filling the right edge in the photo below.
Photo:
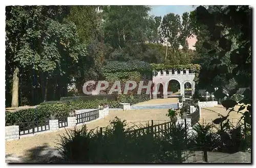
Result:
<svg viewBox="0 0 256 168"><path fill-rule="evenodd" d="M201 55L206 54L204 71L199 79L205 83L210 92L214 87L219 89L215 97L230 97L241 88L244 98L242 104L251 103L251 8L249 6L202 6L196 9L196 24L199 30L205 27L208 36L200 42ZM209 59L212 56L212 59ZM219 75L220 74L220 75ZM231 87L230 87L231 86ZM228 88L230 87L230 88ZM225 100L223 106L233 111L238 104L234 100ZM251 120L251 108L241 105L240 110L247 108L243 118L247 124Z"/></svg>

